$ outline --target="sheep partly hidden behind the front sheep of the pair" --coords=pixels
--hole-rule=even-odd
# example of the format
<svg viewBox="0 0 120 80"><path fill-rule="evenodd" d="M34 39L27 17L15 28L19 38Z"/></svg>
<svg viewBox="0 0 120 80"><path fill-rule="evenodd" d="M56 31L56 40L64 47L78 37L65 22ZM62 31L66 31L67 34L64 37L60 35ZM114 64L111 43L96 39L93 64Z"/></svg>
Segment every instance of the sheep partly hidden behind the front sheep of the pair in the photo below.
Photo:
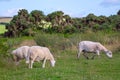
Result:
<svg viewBox="0 0 120 80"><path fill-rule="evenodd" d="M19 61L21 59L26 59L26 63L29 63L28 61L29 59L27 57L28 49L29 49L29 46L22 46L12 51L11 54L13 55L13 59L16 62L16 65L19 64Z"/></svg>

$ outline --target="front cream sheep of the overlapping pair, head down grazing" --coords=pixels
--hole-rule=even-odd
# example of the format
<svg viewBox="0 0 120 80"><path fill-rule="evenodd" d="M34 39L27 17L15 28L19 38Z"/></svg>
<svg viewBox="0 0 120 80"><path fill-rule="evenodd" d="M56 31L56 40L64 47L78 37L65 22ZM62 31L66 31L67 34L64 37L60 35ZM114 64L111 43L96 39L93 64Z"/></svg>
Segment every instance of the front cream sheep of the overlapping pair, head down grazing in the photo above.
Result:
<svg viewBox="0 0 120 80"><path fill-rule="evenodd" d="M51 66L54 67L55 60L47 47L32 46L28 50L29 68L32 68L34 61L43 60L42 67L45 67L46 60L50 60Z"/></svg>

